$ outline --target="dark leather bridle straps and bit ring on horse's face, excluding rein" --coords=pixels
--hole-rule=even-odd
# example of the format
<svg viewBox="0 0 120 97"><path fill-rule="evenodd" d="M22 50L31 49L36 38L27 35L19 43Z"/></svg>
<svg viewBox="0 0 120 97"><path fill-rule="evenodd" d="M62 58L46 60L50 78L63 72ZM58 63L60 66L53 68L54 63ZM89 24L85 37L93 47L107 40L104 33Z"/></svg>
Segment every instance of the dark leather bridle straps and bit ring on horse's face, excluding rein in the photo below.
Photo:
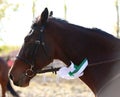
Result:
<svg viewBox="0 0 120 97"><path fill-rule="evenodd" d="M35 67L35 60L36 60L36 54L38 52L38 49L39 47L41 46L44 54L46 55L46 57L50 60L51 58L48 56L47 54L47 51L46 51L46 48L45 48L45 42L43 40L43 32L44 32L44 29L45 29L45 26L42 26L40 29L38 28L32 28L34 30L39 30L39 36L38 36L38 39L35 40L35 46L34 46L34 49L32 51L32 55L31 55L31 60L32 61L29 61L27 60L26 58L24 57L21 57L21 56L17 56L16 58L23 61L25 64L28 64L30 65L31 67L29 69L26 70L26 76L28 77L32 77L35 73L38 73L38 71L34 70L34 67ZM30 74L29 74L30 72Z"/></svg>

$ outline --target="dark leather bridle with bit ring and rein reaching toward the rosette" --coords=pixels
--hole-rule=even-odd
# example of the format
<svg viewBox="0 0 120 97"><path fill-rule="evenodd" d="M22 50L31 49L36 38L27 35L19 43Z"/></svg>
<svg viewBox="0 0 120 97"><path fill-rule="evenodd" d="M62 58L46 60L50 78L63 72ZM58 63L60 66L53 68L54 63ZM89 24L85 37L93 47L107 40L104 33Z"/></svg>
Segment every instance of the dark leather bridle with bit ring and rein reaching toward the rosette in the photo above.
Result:
<svg viewBox="0 0 120 97"><path fill-rule="evenodd" d="M36 64L35 63L36 54L37 54L40 46L41 46L46 58L48 60L51 60L51 57L47 54L47 50L46 50L46 47L45 47L45 42L44 42L44 39L43 39L44 29L45 29L45 25L41 26L40 28L32 27L32 30L38 30L38 32L39 32L38 38L35 40L34 49L32 51L32 55L31 55L32 56L31 57L32 62L28 61L24 57L21 57L20 55L18 55L16 57L18 60L21 60L25 64L30 65L30 68L27 69L26 72L25 72L25 76L27 76L29 78L33 77L37 73L56 72L57 70L59 70L59 68L53 68L53 67L51 67L50 69L47 69L47 70L34 70L34 67L35 67L35 64Z"/></svg>

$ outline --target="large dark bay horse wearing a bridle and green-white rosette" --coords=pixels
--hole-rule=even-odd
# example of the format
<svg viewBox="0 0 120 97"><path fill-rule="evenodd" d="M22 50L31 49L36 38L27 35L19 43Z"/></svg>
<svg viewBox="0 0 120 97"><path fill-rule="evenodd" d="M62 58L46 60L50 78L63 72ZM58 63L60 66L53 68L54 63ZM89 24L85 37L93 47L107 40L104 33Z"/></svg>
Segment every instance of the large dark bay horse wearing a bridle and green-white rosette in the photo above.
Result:
<svg viewBox="0 0 120 97"><path fill-rule="evenodd" d="M10 71L17 86L30 80L54 59L89 65L80 77L96 97L120 95L120 40L97 28L85 28L49 16L48 9L33 22Z"/></svg>

